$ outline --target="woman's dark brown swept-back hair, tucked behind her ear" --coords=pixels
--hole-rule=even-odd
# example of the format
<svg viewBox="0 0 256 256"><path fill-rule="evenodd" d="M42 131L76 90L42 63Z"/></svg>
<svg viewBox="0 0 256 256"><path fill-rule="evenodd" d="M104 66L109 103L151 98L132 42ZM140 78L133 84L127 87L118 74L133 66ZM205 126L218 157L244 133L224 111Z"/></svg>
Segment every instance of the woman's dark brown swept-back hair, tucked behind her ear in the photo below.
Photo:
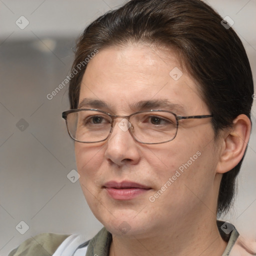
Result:
<svg viewBox="0 0 256 256"><path fill-rule="evenodd" d="M77 41L72 68L95 49L125 46L129 42L175 48L190 74L197 80L202 98L213 114L218 131L231 126L239 114L250 118L253 81L244 47L221 16L200 0L131 0L90 23ZM77 108L86 64L70 80L70 108ZM242 160L223 174L218 213L233 202L235 177Z"/></svg>

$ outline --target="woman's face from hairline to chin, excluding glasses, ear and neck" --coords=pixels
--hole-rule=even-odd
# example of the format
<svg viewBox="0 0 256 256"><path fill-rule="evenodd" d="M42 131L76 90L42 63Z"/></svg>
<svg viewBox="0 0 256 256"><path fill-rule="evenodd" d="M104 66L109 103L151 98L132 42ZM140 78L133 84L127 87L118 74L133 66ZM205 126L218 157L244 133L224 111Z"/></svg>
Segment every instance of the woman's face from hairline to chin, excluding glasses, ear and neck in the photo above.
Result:
<svg viewBox="0 0 256 256"><path fill-rule="evenodd" d="M108 47L87 65L79 108L129 115L140 110L136 103L148 101L148 110L210 114L197 87L171 50ZM157 107L155 101L169 105ZM115 119L106 141L75 142L81 188L96 218L112 234L147 236L212 216L218 153L210 118L181 120L176 137L161 144L135 141L120 121Z"/></svg>

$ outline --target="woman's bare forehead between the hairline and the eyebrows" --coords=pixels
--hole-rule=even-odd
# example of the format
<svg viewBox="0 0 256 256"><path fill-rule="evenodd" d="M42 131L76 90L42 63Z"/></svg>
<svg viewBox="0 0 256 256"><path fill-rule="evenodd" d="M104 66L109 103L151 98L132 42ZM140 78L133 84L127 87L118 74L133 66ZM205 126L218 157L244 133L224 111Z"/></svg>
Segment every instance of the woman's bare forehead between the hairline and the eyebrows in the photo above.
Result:
<svg viewBox="0 0 256 256"><path fill-rule="evenodd" d="M183 112L207 109L174 51L139 44L99 50L82 77L79 104L84 98L129 113L138 102L149 100L182 106Z"/></svg>

